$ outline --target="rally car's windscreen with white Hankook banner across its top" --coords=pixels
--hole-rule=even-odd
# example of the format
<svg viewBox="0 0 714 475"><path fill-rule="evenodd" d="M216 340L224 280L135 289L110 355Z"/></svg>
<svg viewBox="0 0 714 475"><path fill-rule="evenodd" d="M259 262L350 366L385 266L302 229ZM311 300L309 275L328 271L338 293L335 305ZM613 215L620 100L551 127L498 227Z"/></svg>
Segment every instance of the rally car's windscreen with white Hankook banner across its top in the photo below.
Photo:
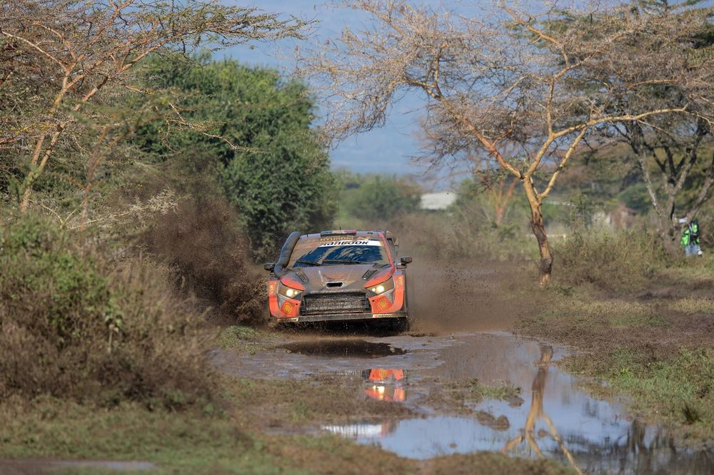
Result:
<svg viewBox="0 0 714 475"><path fill-rule="evenodd" d="M387 265L389 259L381 240L299 240L290 256L288 267L315 265L372 264Z"/></svg>

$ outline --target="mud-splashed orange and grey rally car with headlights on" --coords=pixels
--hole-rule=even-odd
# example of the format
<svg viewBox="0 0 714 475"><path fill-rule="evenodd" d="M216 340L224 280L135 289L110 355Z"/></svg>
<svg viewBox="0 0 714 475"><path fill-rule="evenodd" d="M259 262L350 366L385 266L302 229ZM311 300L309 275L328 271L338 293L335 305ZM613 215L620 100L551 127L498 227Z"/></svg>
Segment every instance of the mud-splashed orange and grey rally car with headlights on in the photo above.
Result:
<svg viewBox="0 0 714 475"><path fill-rule="evenodd" d="M389 231L339 230L288 236L268 262L271 321L392 319L408 327L406 267Z"/></svg>

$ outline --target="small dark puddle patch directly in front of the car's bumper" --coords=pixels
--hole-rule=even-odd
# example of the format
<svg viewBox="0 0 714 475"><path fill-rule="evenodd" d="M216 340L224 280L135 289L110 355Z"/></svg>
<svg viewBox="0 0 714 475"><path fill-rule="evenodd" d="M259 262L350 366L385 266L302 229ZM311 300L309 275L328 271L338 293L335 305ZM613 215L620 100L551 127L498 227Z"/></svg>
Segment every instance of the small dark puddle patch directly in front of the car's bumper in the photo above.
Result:
<svg viewBox="0 0 714 475"><path fill-rule="evenodd" d="M283 344L281 349L288 352L322 357L381 358L395 354L405 354L401 348L388 343L368 342L363 339L328 339L312 342Z"/></svg>

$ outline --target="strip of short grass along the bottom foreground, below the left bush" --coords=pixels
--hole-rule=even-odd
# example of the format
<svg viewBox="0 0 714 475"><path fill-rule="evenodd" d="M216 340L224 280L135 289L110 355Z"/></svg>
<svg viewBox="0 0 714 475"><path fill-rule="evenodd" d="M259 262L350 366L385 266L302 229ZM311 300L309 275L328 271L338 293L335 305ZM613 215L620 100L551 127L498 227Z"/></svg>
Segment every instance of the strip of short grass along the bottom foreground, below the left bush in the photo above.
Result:
<svg viewBox="0 0 714 475"><path fill-rule="evenodd" d="M138 403L112 409L86 407L49 397L33 403L20 399L0 403L0 459L110 459L151 461L151 474L363 474L364 461L390 474L563 473L553 461L513 459L501 454L446 456L432 461L403 459L376 446L356 444L333 435L275 434L264 431L266 414L286 425L365 417L386 402L347 407L336 401L346 388L320 382L226 381L233 394L228 405L210 412L148 411ZM326 389L314 397L316 389ZM312 391L310 390L312 389ZM344 391L344 392L343 392ZM352 398L356 397L352 394ZM286 399L284 404L277 404ZM349 414L349 415L348 415ZM374 417L374 416L373 416ZM103 473L103 469L63 467L63 474ZM109 473L109 472L107 472ZM146 473L146 472L144 472Z"/></svg>

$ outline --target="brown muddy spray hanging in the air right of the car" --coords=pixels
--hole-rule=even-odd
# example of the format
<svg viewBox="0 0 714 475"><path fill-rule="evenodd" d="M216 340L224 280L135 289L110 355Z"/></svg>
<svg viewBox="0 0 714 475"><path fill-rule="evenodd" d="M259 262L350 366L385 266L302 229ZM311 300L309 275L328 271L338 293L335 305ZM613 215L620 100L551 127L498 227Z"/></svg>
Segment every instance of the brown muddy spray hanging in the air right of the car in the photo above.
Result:
<svg viewBox="0 0 714 475"><path fill-rule="evenodd" d="M473 236L439 233L418 226L419 221L398 220L393 230L401 255L411 255L407 292L412 330L433 334L513 330L527 302L519 290L533 285L529 262L461 258ZM445 240L459 240L458 245Z"/></svg>

